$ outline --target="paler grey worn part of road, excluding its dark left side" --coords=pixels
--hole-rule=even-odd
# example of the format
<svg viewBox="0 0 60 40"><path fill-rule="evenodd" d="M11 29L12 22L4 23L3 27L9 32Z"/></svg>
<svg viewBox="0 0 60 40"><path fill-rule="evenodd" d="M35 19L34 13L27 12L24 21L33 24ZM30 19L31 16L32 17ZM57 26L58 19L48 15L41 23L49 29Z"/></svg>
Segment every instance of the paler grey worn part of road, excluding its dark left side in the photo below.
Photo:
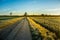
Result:
<svg viewBox="0 0 60 40"><path fill-rule="evenodd" d="M5 40L31 40L28 21L22 20Z"/></svg>

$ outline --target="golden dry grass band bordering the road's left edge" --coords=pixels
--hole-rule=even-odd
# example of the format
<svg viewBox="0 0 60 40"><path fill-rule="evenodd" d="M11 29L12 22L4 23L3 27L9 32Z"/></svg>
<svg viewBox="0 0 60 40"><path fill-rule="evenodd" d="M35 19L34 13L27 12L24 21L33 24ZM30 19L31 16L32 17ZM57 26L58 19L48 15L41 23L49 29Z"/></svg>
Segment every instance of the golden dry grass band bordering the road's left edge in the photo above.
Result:
<svg viewBox="0 0 60 40"><path fill-rule="evenodd" d="M0 24L0 29L5 28L7 25L14 24L15 22L21 20L22 18L23 18L23 17L13 18L13 19L10 19L10 20L5 20L4 22L2 22L2 23Z"/></svg>

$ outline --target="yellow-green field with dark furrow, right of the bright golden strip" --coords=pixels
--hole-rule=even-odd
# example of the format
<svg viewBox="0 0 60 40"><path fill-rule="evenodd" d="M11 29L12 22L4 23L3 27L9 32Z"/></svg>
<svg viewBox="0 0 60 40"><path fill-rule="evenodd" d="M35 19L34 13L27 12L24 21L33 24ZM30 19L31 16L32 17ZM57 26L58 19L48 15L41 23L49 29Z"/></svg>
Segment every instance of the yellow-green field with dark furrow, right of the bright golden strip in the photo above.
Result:
<svg viewBox="0 0 60 40"><path fill-rule="evenodd" d="M30 19L32 19L34 22L36 22L37 24L42 26L42 28L40 28L40 31L41 31L41 29L43 31L41 31L40 33L44 32L44 34L45 34L46 31L48 31L48 33L52 32L52 33L55 33L57 39L60 39L60 17L41 16L41 17L30 17ZM38 26L36 26L36 27L38 27ZM39 29L39 27L38 27L38 29Z"/></svg>

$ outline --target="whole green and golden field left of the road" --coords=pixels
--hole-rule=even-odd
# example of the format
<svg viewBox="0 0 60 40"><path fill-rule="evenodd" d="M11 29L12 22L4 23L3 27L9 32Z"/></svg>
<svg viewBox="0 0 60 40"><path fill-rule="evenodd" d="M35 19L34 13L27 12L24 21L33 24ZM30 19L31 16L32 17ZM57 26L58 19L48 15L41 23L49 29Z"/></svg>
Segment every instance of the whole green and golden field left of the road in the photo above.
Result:
<svg viewBox="0 0 60 40"><path fill-rule="evenodd" d="M11 16L2 16L0 17L0 30L14 24L15 22L21 20L23 17L11 17Z"/></svg>

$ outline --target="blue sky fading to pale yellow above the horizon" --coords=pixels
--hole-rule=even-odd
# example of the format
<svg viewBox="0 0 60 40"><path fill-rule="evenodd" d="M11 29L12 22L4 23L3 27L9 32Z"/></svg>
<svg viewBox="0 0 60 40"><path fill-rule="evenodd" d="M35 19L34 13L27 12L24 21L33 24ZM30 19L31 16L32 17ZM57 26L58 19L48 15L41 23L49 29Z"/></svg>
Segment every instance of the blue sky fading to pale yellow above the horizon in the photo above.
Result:
<svg viewBox="0 0 60 40"><path fill-rule="evenodd" d="M60 0L0 0L0 15L60 15Z"/></svg>

